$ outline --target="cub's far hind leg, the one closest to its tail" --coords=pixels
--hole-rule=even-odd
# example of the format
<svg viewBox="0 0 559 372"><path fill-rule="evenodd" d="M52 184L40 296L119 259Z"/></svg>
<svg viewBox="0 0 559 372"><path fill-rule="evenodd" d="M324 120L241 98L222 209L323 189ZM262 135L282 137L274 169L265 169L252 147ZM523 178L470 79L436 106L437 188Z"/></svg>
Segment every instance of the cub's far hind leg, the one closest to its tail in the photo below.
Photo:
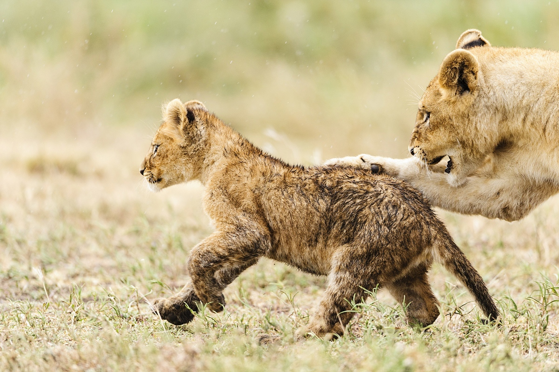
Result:
<svg viewBox="0 0 559 372"><path fill-rule="evenodd" d="M439 301L429 284L427 270L427 264L420 263L404 277L386 285L397 302L406 304L408 322L421 327L433 324L439 316Z"/></svg>

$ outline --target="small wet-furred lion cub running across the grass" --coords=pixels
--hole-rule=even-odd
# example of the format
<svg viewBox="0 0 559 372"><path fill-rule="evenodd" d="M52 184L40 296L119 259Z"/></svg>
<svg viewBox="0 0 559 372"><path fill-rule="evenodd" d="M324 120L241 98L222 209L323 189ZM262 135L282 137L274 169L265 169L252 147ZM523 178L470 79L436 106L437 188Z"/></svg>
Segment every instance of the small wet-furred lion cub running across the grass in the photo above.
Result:
<svg viewBox="0 0 559 372"><path fill-rule="evenodd" d="M215 232L192 248L192 281L155 300L163 319L188 323L196 303L221 311L224 288L262 256L328 275L303 333L343 335L353 316L348 300L364 299L377 286L408 305L410 323L433 323L439 315L427 279L433 260L466 286L489 319L498 317L481 276L407 183L364 169L288 165L198 101L173 100L163 116L140 173L152 190L200 180L203 208L215 224Z"/></svg>

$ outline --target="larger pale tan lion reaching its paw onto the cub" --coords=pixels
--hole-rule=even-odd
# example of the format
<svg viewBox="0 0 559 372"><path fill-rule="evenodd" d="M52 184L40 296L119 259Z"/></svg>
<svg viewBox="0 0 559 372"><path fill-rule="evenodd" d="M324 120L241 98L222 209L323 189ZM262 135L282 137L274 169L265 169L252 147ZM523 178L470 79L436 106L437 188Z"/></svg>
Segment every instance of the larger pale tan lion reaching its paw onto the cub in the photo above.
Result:
<svg viewBox="0 0 559 372"><path fill-rule="evenodd" d="M456 48L419 101L414 157L325 164L408 181L447 210L518 220L559 191L559 53L496 48L478 30Z"/></svg>

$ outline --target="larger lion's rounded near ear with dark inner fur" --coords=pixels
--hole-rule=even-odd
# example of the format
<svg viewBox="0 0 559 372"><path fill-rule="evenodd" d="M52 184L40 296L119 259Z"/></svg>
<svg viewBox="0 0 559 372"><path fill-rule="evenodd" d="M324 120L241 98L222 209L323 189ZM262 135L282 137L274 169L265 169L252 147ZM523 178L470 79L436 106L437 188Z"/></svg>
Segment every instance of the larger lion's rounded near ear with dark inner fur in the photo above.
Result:
<svg viewBox="0 0 559 372"><path fill-rule="evenodd" d="M439 69L439 86L443 96L476 92L479 63L475 55L464 49L451 51Z"/></svg>

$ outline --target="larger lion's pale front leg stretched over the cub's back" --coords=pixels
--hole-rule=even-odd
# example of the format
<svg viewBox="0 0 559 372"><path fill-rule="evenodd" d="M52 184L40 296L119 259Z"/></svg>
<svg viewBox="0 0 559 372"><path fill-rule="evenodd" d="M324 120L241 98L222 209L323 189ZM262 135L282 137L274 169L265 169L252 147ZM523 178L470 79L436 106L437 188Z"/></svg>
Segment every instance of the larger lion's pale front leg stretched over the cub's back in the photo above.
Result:
<svg viewBox="0 0 559 372"><path fill-rule="evenodd" d="M506 154L492 154L459 186L448 183L445 162L425 166L415 157L391 159L363 154L330 159L325 164L357 164L365 169L378 167L380 173L409 182L433 206L507 221L523 218L558 190L551 182L528 180L522 169L518 169L523 166L522 159ZM505 171L499 172L500 169Z"/></svg>

